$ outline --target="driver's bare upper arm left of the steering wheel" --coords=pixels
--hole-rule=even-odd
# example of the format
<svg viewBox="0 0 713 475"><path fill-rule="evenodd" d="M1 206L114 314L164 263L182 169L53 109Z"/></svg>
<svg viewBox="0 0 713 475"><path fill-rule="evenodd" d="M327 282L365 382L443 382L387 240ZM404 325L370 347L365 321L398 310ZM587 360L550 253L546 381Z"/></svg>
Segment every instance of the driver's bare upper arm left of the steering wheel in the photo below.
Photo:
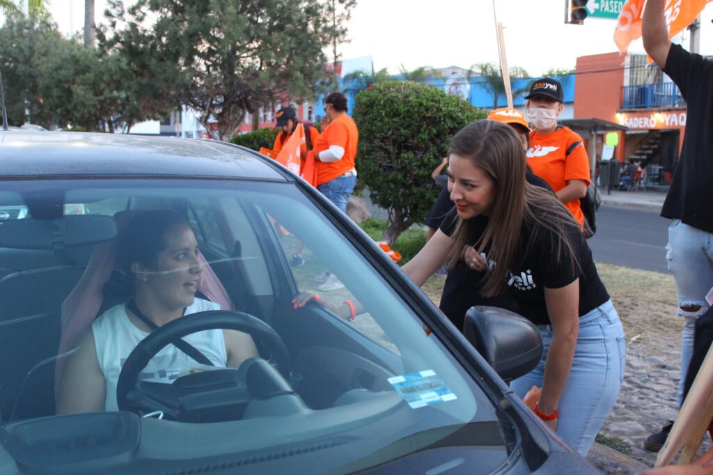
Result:
<svg viewBox="0 0 713 475"><path fill-rule="evenodd" d="M96 357L94 334L84 334L68 359L59 384L56 413L101 412L106 399L106 379Z"/></svg>

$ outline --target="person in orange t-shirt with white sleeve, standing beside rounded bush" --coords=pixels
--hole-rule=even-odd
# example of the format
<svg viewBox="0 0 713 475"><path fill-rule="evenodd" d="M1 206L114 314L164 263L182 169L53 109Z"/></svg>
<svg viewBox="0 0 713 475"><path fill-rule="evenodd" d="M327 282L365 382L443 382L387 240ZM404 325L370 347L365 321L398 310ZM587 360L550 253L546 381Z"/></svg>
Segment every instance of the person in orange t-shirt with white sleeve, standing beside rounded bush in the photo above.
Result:
<svg viewBox="0 0 713 475"><path fill-rule="evenodd" d="M354 120L347 116L347 98L342 93L331 93L324 100L324 112L329 123L314 141L314 160L317 167L317 190L337 208L347 213L349 195L356 185L356 146L359 131Z"/></svg>

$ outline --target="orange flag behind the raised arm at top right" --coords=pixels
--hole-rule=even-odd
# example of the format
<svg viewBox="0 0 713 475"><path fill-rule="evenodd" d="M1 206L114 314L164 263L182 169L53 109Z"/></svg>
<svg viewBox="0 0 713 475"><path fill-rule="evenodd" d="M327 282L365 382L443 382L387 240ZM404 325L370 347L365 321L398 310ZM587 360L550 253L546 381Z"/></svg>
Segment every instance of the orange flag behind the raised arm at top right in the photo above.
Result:
<svg viewBox="0 0 713 475"><path fill-rule="evenodd" d="M666 0L664 16L669 38L692 24L706 4L712 0ZM617 19L614 42L621 53L626 53L629 44L641 38L641 16L646 0L626 0Z"/></svg>

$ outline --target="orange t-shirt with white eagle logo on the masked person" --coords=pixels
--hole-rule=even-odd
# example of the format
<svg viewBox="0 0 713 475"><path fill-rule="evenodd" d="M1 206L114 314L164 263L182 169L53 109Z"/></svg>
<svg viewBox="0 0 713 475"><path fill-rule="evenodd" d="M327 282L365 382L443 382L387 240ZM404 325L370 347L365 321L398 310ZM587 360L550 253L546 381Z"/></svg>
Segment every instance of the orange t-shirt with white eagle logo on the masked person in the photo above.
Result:
<svg viewBox="0 0 713 475"><path fill-rule="evenodd" d="M555 193L567 186L568 180L582 180L589 186L590 168L584 141L578 133L560 127L552 133L530 132L530 148L525 160L533 173L545 180ZM580 200L565 203L565 208L584 225Z"/></svg>

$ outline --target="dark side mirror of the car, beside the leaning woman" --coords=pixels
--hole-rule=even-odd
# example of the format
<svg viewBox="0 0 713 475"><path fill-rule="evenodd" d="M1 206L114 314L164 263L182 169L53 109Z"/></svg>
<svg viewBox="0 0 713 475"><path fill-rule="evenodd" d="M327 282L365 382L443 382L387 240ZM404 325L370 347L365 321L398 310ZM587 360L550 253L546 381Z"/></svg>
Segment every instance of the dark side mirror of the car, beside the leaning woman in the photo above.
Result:
<svg viewBox="0 0 713 475"><path fill-rule="evenodd" d="M538 327L496 307L468 309L463 334L506 382L535 369L544 352Z"/></svg>

